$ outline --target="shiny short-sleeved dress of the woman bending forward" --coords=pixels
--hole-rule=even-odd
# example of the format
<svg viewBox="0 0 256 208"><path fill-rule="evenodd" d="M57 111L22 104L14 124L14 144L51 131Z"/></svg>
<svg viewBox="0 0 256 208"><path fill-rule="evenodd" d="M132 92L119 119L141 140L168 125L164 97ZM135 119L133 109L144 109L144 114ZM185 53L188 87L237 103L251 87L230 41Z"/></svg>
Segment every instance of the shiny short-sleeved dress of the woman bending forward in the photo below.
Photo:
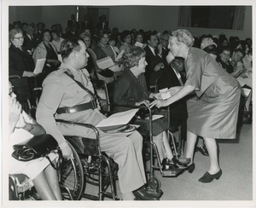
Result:
<svg viewBox="0 0 256 208"><path fill-rule="evenodd" d="M236 138L241 88L223 68L201 49L189 48L184 62L185 85L195 86L200 98L188 105L188 130L198 136L216 139Z"/></svg>

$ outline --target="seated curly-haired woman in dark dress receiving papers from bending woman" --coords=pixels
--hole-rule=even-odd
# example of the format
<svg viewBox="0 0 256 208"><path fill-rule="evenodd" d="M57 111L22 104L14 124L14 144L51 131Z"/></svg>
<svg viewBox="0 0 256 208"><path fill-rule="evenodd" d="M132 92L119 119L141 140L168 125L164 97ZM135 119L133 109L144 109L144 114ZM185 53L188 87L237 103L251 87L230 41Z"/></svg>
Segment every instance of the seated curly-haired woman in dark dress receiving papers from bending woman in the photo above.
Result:
<svg viewBox="0 0 256 208"><path fill-rule="evenodd" d="M145 105L148 107L149 99L153 99L156 94L148 92L146 79L143 74L147 66L145 51L139 47L126 49L121 63L125 67L125 72L123 72L122 76L115 83L113 102L118 105ZM125 111L129 109L129 107L114 108L115 111ZM166 136L166 129L168 129L168 125L165 124L162 119L154 120L153 141L158 148L163 169L166 169L168 166L171 169L184 169L186 165L183 165L173 157Z"/></svg>

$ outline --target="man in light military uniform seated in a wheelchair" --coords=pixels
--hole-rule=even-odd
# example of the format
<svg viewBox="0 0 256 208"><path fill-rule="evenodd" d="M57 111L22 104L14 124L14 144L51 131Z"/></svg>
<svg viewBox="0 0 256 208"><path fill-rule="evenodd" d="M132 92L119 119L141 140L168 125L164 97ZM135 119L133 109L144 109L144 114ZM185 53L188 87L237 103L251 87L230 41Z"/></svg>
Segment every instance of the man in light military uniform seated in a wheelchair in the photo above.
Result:
<svg viewBox="0 0 256 208"><path fill-rule="evenodd" d="M63 63L59 70L44 79L38 103L37 120L46 132L59 142L64 157L72 156L64 136L93 137L91 130L75 124L55 122L55 118L82 124L98 124L105 118L99 111L90 74L84 68L89 55L82 39L67 38L61 43ZM63 136L64 135L64 136ZM149 194L143 166L143 137L134 131L130 136L109 136L100 131L100 147L119 165L119 187L122 198L135 197L157 200L160 195Z"/></svg>

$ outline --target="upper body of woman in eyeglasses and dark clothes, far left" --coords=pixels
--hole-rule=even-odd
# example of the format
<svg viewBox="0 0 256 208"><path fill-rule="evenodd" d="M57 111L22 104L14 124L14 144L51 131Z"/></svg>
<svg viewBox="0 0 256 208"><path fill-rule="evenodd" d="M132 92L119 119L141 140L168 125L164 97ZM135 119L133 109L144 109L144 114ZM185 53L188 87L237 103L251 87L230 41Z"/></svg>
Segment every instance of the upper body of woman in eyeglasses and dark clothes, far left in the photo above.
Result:
<svg viewBox="0 0 256 208"><path fill-rule="evenodd" d="M9 76L34 77L35 65L31 55L22 46L24 43L23 32L20 29L12 29L9 32Z"/></svg>

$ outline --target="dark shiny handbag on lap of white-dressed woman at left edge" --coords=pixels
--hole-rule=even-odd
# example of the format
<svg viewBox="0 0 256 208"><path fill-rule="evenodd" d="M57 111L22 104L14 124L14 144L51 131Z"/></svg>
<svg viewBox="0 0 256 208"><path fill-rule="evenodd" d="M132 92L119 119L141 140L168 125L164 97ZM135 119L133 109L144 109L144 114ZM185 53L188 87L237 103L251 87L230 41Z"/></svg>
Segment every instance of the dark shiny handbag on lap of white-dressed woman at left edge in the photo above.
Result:
<svg viewBox="0 0 256 208"><path fill-rule="evenodd" d="M15 144L13 146L15 151L12 153L12 156L23 162L41 157L49 159L47 155L56 150L57 147L58 142L56 142L53 136L48 134L33 136L32 139L27 142Z"/></svg>

